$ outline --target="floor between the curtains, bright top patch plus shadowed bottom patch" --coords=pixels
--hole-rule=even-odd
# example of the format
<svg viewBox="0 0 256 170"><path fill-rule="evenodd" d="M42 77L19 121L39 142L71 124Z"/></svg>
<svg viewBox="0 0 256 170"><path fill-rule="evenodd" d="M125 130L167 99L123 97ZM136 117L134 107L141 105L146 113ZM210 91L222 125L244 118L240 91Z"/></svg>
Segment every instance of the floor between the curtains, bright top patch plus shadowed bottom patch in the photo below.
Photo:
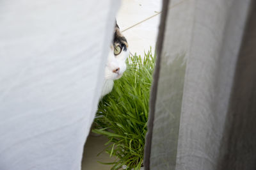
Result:
<svg viewBox="0 0 256 170"><path fill-rule="evenodd" d="M161 0L123 0L122 6L116 17L118 26L129 43L132 54L144 54L156 45L157 31L160 19ZM100 162L111 162L107 153L97 154L102 151L106 137L89 136L84 146L82 170L109 170L111 166Z"/></svg>

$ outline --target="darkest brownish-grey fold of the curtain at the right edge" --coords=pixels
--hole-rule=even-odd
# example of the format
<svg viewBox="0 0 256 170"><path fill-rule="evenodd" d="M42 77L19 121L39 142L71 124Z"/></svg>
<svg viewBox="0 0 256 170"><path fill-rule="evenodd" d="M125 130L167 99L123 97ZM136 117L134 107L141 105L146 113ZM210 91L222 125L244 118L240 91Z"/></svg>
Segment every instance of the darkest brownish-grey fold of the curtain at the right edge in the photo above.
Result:
<svg viewBox="0 0 256 170"><path fill-rule="evenodd" d="M252 1L237 60L218 169L256 169L256 3Z"/></svg>

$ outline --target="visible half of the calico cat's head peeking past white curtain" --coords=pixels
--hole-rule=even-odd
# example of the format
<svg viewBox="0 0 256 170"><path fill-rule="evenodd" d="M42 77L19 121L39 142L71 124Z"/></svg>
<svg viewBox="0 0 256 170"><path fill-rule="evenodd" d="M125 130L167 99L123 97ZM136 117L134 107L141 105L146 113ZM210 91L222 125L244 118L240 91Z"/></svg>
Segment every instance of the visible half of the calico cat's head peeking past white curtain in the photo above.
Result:
<svg viewBox="0 0 256 170"><path fill-rule="evenodd" d="M108 61L105 67L105 79L115 80L122 77L126 70L125 60L129 56L128 43L116 24L113 41L110 46Z"/></svg>

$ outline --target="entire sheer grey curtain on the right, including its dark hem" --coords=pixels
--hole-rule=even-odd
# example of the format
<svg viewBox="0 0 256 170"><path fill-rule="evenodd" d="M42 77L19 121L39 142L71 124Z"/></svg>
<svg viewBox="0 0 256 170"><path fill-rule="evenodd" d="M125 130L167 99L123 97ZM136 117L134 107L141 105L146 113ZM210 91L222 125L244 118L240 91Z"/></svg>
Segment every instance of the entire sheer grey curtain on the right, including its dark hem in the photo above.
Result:
<svg viewBox="0 0 256 170"><path fill-rule="evenodd" d="M256 169L255 18L250 0L163 1L145 169Z"/></svg>

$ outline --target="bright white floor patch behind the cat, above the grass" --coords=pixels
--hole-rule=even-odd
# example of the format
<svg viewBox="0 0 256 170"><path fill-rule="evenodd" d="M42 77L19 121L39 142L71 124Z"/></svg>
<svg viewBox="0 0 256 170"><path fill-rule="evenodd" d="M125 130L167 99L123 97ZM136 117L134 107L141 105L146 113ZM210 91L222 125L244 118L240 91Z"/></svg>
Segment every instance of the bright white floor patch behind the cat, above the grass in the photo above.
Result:
<svg viewBox="0 0 256 170"><path fill-rule="evenodd" d="M162 7L161 0L124 0L116 17L132 54L154 51Z"/></svg>

